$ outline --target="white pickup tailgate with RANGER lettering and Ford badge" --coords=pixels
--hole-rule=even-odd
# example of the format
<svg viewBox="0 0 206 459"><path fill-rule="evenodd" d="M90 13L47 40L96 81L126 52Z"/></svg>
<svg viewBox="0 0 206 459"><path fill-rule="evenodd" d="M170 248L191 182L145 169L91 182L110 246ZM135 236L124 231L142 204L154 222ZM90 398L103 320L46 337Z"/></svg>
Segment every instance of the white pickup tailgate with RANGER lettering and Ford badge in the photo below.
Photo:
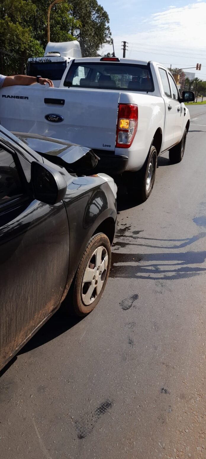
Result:
<svg viewBox="0 0 206 459"><path fill-rule="evenodd" d="M119 96L116 90L2 88L0 124L12 131L114 151Z"/></svg>

